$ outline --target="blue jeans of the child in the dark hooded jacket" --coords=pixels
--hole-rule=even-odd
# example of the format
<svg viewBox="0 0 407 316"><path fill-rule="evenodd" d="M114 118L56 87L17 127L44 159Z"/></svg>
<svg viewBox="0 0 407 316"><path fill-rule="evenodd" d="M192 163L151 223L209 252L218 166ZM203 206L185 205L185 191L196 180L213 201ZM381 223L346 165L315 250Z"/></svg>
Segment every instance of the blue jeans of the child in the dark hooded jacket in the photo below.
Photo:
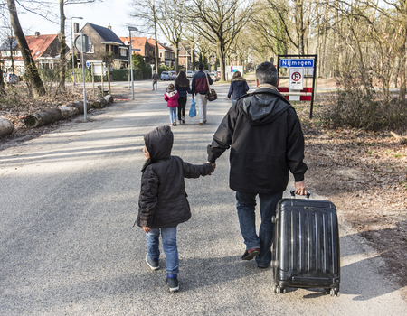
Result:
<svg viewBox="0 0 407 316"><path fill-rule="evenodd" d="M166 254L166 273L178 274L179 258L178 247L176 246L176 226L175 228L151 228L150 232L146 233L148 256L155 261L160 257L160 250L158 249L160 231L164 253Z"/></svg>

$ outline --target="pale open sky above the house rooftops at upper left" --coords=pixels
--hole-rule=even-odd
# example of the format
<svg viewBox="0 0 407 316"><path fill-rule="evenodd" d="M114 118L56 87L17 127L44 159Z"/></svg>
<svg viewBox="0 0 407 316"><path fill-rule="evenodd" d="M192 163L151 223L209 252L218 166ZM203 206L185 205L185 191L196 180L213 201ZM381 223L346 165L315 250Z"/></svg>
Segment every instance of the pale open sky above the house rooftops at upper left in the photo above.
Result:
<svg viewBox="0 0 407 316"><path fill-rule="evenodd" d="M56 4L58 1L56 1ZM71 17L81 16L83 20L72 19L73 22L80 23L80 29L85 25L85 23L93 23L100 26L107 27L110 23L112 31L116 35L128 36L128 25L140 25L136 23L133 18L128 16L131 11L131 0L104 0L102 3L97 4L84 4L84 5L66 5L65 15L66 15L66 28L65 33L67 36L67 43L71 46ZM17 8L20 23L22 24L25 35L33 35L36 31L41 34L56 34L59 32L59 21L56 23L51 23L45 20L43 17L36 14L24 13L21 8ZM55 5L52 10L54 14L59 14L59 7ZM132 32L132 36L147 36L153 37L152 34Z"/></svg>

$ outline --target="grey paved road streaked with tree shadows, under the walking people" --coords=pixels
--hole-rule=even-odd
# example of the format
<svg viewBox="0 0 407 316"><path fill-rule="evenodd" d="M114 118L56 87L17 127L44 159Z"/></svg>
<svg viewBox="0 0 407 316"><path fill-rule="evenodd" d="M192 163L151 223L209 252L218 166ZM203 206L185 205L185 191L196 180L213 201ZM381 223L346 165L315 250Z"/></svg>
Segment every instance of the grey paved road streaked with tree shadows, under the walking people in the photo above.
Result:
<svg viewBox="0 0 407 316"><path fill-rule="evenodd" d="M173 128L173 154L206 161L231 105L227 88L218 86L207 125L188 117ZM1 315L405 315L402 289L343 221L341 296L272 293L272 271L241 261L228 154L212 176L186 180L193 217L179 226L181 291L169 293L165 269L147 267L144 233L132 228L143 135L169 122L162 91L80 120L0 152Z"/></svg>

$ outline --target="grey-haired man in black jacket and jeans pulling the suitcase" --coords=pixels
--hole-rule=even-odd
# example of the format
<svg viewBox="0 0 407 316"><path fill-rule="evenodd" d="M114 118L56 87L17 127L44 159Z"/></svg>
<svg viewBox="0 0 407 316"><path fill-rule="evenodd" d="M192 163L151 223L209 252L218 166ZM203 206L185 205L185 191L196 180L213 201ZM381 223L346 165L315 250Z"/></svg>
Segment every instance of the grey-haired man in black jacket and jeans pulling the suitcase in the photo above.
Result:
<svg viewBox="0 0 407 316"><path fill-rule="evenodd" d="M296 193L307 188L304 173L304 135L294 108L276 88L278 72L270 62L256 69L256 90L232 106L208 145L208 161L215 163L231 148L229 186L236 191L241 235L246 244L242 260L256 257L260 268L270 266L277 202L294 175ZM261 225L256 234L256 196Z"/></svg>

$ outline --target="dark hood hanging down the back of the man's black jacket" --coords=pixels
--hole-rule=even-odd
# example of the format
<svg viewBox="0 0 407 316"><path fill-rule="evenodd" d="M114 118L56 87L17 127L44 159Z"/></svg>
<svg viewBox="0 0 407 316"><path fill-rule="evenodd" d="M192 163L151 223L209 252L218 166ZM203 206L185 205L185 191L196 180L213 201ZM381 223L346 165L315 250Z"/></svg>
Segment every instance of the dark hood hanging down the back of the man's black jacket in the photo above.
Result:
<svg viewBox="0 0 407 316"><path fill-rule="evenodd" d="M270 98L270 94L278 98ZM271 88L258 88L242 101L244 114L249 117L251 125L268 124L291 107L279 91Z"/></svg>

